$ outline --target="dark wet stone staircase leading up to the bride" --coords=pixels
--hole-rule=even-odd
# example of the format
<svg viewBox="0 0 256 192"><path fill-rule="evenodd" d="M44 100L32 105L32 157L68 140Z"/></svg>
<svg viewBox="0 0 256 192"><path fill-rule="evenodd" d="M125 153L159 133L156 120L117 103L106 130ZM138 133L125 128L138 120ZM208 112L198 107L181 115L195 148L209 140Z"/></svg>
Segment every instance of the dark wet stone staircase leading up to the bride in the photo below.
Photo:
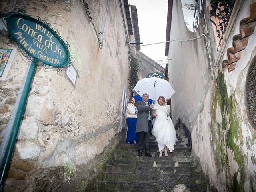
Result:
<svg viewBox="0 0 256 192"><path fill-rule="evenodd" d="M168 157L158 157L154 136L150 138L153 157L139 157L138 146L122 144L111 164L96 181L98 192L204 192L204 174L194 166L191 152L179 140ZM145 155L145 154L143 154Z"/></svg>

